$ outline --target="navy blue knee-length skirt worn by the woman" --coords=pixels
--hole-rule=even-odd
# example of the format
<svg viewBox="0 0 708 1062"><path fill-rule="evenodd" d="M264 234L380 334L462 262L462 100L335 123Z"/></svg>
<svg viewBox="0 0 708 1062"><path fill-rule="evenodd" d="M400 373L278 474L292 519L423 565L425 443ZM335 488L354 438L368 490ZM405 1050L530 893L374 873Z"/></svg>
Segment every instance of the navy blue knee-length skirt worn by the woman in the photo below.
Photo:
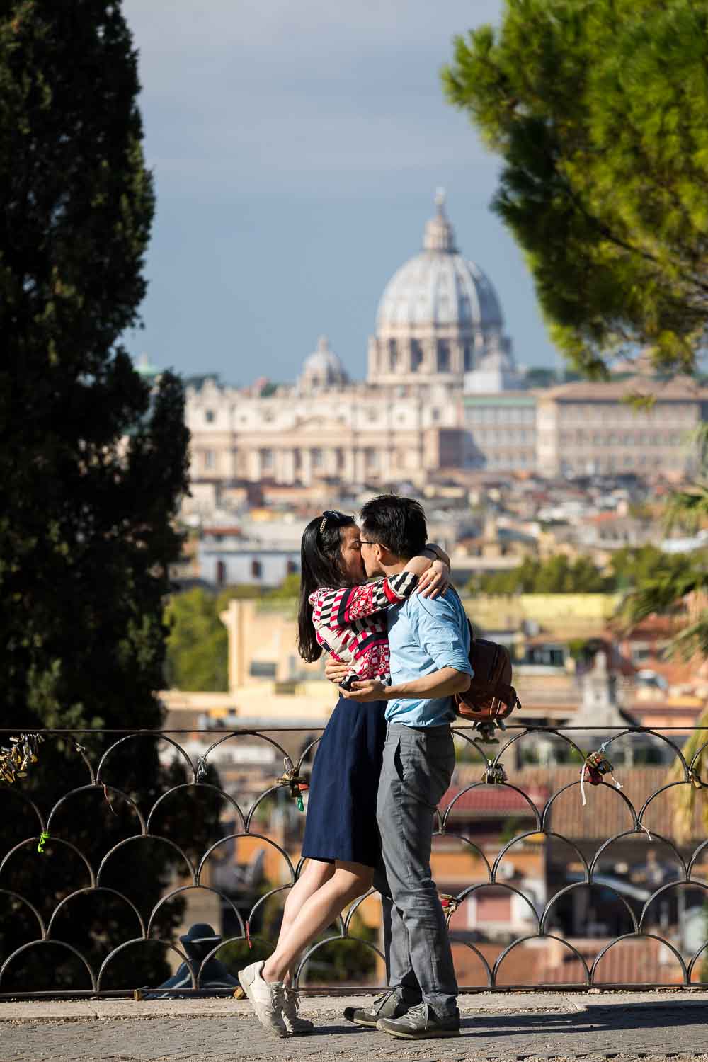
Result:
<svg viewBox="0 0 708 1062"><path fill-rule="evenodd" d="M385 701L340 697L317 746L310 777L303 856L376 867L381 842L376 794L383 758Z"/></svg>

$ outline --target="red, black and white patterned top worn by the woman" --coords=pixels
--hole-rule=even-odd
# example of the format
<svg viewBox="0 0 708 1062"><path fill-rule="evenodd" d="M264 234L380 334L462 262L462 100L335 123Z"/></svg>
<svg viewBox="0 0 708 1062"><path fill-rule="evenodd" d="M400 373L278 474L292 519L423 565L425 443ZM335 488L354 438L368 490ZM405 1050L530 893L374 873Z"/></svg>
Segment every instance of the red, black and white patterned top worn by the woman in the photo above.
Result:
<svg viewBox="0 0 708 1062"><path fill-rule="evenodd" d="M390 685L385 611L404 601L417 584L417 576L401 571L359 586L313 590L309 601L317 641L335 661L351 664L349 674L380 679Z"/></svg>

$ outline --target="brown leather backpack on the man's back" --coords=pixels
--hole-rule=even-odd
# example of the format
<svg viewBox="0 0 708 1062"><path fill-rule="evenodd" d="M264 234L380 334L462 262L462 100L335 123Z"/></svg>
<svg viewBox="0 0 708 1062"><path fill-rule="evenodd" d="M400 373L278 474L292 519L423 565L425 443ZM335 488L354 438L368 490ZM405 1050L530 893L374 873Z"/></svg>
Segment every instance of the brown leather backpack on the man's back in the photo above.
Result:
<svg viewBox="0 0 708 1062"><path fill-rule="evenodd" d="M469 626L469 663L472 668L470 687L455 693L454 709L472 722L496 722L510 716L521 702L512 686L512 657L506 646L487 638L476 638Z"/></svg>

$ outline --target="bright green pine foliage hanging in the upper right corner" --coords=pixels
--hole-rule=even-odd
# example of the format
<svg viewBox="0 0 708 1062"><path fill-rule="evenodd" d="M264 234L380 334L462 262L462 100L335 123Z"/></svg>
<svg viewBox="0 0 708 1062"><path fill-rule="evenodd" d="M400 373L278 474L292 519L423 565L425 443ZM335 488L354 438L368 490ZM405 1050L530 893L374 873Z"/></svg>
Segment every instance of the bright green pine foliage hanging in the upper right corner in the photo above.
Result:
<svg viewBox="0 0 708 1062"><path fill-rule="evenodd" d="M456 38L448 99L501 156L494 208L569 362L695 369L708 325L708 7L506 0Z"/></svg>

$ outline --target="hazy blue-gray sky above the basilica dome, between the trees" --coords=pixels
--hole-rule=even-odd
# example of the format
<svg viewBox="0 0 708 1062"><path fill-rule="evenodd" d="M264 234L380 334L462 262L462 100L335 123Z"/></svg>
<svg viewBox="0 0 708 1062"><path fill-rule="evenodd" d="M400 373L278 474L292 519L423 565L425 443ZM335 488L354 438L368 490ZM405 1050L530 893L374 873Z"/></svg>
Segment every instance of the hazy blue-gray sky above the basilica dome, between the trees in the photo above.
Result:
<svg viewBox="0 0 708 1062"><path fill-rule="evenodd" d="M228 383L293 379L327 335L363 378L376 309L437 187L521 364L556 365L490 211L499 159L445 101L455 35L502 0L123 0L157 210L134 357Z"/></svg>

